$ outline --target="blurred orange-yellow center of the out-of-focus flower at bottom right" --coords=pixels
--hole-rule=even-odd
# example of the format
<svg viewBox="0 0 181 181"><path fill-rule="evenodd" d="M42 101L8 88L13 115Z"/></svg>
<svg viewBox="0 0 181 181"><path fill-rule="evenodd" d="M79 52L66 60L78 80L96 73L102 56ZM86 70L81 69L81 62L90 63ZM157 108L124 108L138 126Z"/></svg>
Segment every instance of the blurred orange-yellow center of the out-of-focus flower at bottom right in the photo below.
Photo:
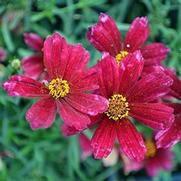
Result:
<svg viewBox="0 0 181 181"><path fill-rule="evenodd" d="M156 152L157 152L157 148L156 148L155 143L151 139L147 139L145 141L145 146L147 149L145 157L146 158L154 157L156 155Z"/></svg>

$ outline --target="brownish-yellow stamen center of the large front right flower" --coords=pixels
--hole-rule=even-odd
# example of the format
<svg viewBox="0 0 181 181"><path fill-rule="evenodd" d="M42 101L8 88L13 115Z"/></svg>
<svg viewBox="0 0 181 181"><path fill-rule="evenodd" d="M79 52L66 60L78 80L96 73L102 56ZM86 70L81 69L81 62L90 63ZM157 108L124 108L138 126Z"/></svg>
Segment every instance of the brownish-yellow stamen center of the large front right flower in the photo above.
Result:
<svg viewBox="0 0 181 181"><path fill-rule="evenodd" d="M129 104L126 98L120 94L114 94L109 98L109 107L105 114L109 119L118 121L121 118L128 117L129 110Z"/></svg>

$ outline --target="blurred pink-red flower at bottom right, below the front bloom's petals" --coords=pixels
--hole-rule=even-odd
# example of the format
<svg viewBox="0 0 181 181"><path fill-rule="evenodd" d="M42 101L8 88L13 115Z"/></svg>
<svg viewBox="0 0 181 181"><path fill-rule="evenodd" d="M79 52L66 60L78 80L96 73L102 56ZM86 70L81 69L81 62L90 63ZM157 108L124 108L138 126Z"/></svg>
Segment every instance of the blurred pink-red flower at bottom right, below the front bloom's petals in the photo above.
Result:
<svg viewBox="0 0 181 181"><path fill-rule="evenodd" d="M160 170L171 170L173 152L170 149L157 148L155 141L152 139L146 139L145 145L147 152L143 161L130 160L126 156L122 155L124 163L124 172L128 174L130 171L138 171L142 168L146 169L149 176L156 176Z"/></svg>

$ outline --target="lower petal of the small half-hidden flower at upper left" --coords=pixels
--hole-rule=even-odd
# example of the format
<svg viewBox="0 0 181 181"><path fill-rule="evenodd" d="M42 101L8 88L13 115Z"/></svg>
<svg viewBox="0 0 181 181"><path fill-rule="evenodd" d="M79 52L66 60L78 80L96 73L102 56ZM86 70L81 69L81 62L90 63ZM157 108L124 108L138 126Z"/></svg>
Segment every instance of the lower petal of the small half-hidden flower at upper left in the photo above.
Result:
<svg viewBox="0 0 181 181"><path fill-rule="evenodd" d="M37 79L44 72L43 57L38 55L28 56L21 62L24 75Z"/></svg>

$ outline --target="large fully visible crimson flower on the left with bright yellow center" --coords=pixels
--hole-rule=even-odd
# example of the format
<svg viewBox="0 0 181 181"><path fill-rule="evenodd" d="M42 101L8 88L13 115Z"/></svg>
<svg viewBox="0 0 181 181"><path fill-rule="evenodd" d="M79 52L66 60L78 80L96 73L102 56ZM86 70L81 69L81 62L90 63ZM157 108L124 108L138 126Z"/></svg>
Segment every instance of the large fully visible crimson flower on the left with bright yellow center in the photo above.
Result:
<svg viewBox="0 0 181 181"><path fill-rule="evenodd" d="M50 127L57 111L66 125L84 129L89 116L104 112L108 105L105 98L89 93L97 89L95 72L86 69L89 53L79 44L68 44L58 33L45 40L43 53L47 80L14 75L4 89L10 96L39 98L26 113L32 129Z"/></svg>

